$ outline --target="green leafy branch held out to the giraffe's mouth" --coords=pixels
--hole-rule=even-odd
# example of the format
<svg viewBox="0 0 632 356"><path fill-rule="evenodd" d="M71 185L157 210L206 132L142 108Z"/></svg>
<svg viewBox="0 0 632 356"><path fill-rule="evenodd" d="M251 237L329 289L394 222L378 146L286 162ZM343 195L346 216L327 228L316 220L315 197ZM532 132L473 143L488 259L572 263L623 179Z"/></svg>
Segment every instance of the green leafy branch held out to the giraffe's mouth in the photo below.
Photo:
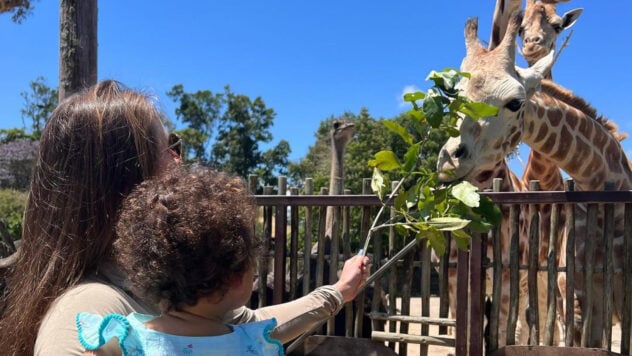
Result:
<svg viewBox="0 0 632 356"><path fill-rule="evenodd" d="M498 112L496 107L461 96L457 84L463 77L469 78L469 74L454 69L432 71L426 80L434 85L426 93L417 91L404 95L404 100L413 107L408 112L413 118L412 127L406 128L392 120L384 122L408 149L402 157L383 150L368 162L373 167L371 187L383 205L369 231L365 250L372 234L388 227L405 236L412 233L416 238L427 239L440 255L446 249L443 232L450 231L457 246L467 250L471 232L487 232L500 222L500 210L489 198L481 197L477 187L467 181L441 184L436 172L420 164L424 147L430 142L430 130L443 130L455 137L459 135L457 122L462 115L477 120ZM390 184L385 172L399 175L397 185L386 199ZM386 223L377 225L391 202L396 214Z"/></svg>

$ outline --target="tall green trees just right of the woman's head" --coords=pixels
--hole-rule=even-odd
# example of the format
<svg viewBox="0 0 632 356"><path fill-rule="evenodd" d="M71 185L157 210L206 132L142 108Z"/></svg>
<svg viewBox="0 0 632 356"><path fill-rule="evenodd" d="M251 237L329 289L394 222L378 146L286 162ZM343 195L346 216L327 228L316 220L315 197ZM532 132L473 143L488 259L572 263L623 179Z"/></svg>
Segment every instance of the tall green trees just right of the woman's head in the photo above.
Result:
<svg viewBox="0 0 632 356"><path fill-rule="evenodd" d="M287 174L287 141L263 151L262 144L272 141L270 128L276 113L261 97L210 90L186 92L181 84L167 95L178 104L177 119L187 127L178 130L185 147L185 159L210 164L218 169L247 177L257 174L262 184L277 175Z"/></svg>

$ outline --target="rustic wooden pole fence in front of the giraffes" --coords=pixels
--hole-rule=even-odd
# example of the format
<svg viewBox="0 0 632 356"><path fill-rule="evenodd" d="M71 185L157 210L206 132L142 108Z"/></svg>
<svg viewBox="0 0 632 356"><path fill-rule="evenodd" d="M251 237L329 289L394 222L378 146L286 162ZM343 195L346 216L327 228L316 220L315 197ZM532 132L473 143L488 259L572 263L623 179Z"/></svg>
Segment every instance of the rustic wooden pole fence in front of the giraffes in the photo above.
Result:
<svg viewBox="0 0 632 356"><path fill-rule="evenodd" d="M509 209L511 252L510 263L502 264L500 257L499 231L495 229L489 234L475 235L471 241L470 251L459 251L457 263L449 263L447 255L439 262L432 262L431 251L424 241L416 243L412 238L397 236L394 230L384 234L375 234L369 249L372 259L372 271L378 271L370 279L371 298L365 299L365 294L356 298L356 306L346 306L344 336L362 337L362 330L367 327L363 316L370 317L372 331L370 337L373 340L385 342L391 348L397 348L400 355L406 355L411 347L418 348L418 354L428 353L429 346L445 347L445 351L457 355L482 355L491 353L498 348L498 315L500 296L500 275L511 275L511 298L509 300L509 316L506 342L500 344L512 345L518 342L515 339L516 321L518 319L518 273L526 270L528 274L530 305L535 307L528 309L528 320L532 323L528 330L530 336L542 335L540 344L551 345L554 341L553 333L556 325L562 326L562 335L559 345L586 346L594 340L603 346L603 349L614 350L622 354L630 354L630 326L632 308L632 191L601 191L578 192L572 191L572 181L567 182L567 191L560 192L484 192L495 203ZM256 177L251 179L251 187L256 187ZM340 196L328 196L326 189L320 194L314 194L311 188L311 180L305 182L305 189L301 194L297 188L286 188L283 177L279 178L276 192L272 187L266 188L263 195L256 195L257 205L260 206L260 217L257 223L257 231L261 234L267 254L259 263L259 276L268 276L274 273L273 282L259 283L257 291L257 305L277 304L286 300L306 294L314 286L322 285L327 281L326 266L340 268L342 262L357 253L358 241L364 241L371 222L375 218L377 209L381 207L379 199L370 193L370 181L363 182L363 194L351 195L348 192ZM592 298L591 276L600 275L604 281L605 300L596 301L598 310L603 310L604 315L609 315L613 310L613 291L615 288L623 290L622 313L619 323L612 325L611 318L604 318L603 332L600 335L590 335L590 328L584 327L581 332L581 344L573 345L573 322L575 317L571 312L563 314L558 302L566 301L567 305L574 305L574 274L566 274L566 271L575 270L575 209L581 204L585 207L588 216L588 231L586 243L594 243L596 239L603 239L604 250L598 252L600 256L606 256L606 263L594 263L594 248L588 246L586 250L586 263L581 272L583 284L585 284L586 300ZM538 209L544 205L551 207L551 235L539 236L537 225L549 223L539 221ZM332 253L326 254L325 246L325 214L328 206L337 210L339 217L334 222L334 232L331 242ZM529 209L530 256L529 264L521 266L518 263L518 215L520 209ZM615 209L625 210L625 238L621 248L624 249L624 262L622 266L613 265L613 237ZM354 212L357 211L357 212ZM354 213L352 213L354 212ZM558 226L560 214L565 216L564 226ZM360 216L353 221L351 216ZM563 251L556 250L555 239L557 232L565 242ZM449 235L446 236L448 243ZM551 239L548 244L549 251L547 263L538 260L539 244L542 239ZM312 251L314 243L319 242L318 251ZM355 248L354 248L355 246ZM488 248L489 246L489 248ZM449 251L449 248L447 249ZM627 253L631 251L631 253ZM337 253L336 253L337 252ZM567 265L558 266L560 254L565 254ZM315 268L310 268L314 267ZM381 268L388 265L388 268ZM579 267L578 267L579 268ZM457 274L457 310L456 319L448 317L448 288L447 276L450 273ZM335 270L329 275L330 281L335 280ZM487 270L493 271L491 286L485 286ZM451 272L452 271L452 272ZM578 271L580 271L578 269ZM537 303L537 273L547 275L547 308L538 310ZM622 285L614 285L615 274L623 277ZM558 288L557 278L566 276L565 291L562 295ZM266 278L260 280L266 281ZM299 284L299 281L300 282ZM312 284L310 284L310 281ZM272 287L272 295L266 285ZM504 288L507 288L506 286ZM368 290L368 289L367 289ZM486 296L485 291L491 290ZM367 293L368 295L369 293ZM385 297L385 303L380 296ZM485 303L485 300L491 303ZM420 312L411 314L411 300L416 299L421 303ZM438 311L431 310L431 299L439 299ZM400 305L397 306L397 300ZM365 305L370 305L370 311L366 311ZM487 307L486 307L487 306ZM385 309L384 309L385 308ZM486 313L487 309L487 313ZM357 312L360 310L360 312ZM362 312L365 310L365 312ZM533 323L539 320L538 314L546 315L545 325ZM585 324L590 325L593 317L593 309L585 309L581 315ZM432 315L432 316L431 316ZM409 327L420 324L417 332L409 333ZM430 333L429 328L437 328L438 332ZM453 333L447 333L448 329L455 329ZM485 331L486 330L486 331ZM620 344L613 344L613 330L619 335ZM328 322L324 329L318 329L317 333L334 334L334 322ZM366 337L366 335L364 336ZM531 338L530 340L536 340ZM300 342L300 340L299 340ZM535 341L529 341L534 344ZM291 347L296 347L292 344ZM416 351L416 350L415 350Z"/></svg>

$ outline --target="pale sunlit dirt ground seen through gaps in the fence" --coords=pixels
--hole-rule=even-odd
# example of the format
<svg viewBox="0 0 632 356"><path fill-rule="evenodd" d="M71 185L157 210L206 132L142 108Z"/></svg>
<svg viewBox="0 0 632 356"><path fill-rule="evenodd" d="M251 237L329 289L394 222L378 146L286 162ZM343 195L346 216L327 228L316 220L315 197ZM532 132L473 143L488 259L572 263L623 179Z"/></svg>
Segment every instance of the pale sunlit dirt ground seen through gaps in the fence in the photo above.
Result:
<svg viewBox="0 0 632 356"><path fill-rule="evenodd" d="M397 307L400 307L400 299L397 299ZM421 315L421 299L413 298L411 300L411 315ZM439 316L439 298L431 298L430 299L430 316L438 317ZM437 326L431 325L430 327L430 335L439 335L439 328ZM612 351L619 352L621 347L621 329L619 325L616 325L612 328ZM421 334L421 326L420 324L409 324L409 334L412 335L420 335ZM452 335L450 335L452 336ZM399 351L397 348L395 351ZM430 356L445 356L445 355L453 355L454 349L451 347L441 347L441 346L429 346L428 347L428 355ZM409 344L408 345L408 356L419 356L420 349L419 345Z"/></svg>

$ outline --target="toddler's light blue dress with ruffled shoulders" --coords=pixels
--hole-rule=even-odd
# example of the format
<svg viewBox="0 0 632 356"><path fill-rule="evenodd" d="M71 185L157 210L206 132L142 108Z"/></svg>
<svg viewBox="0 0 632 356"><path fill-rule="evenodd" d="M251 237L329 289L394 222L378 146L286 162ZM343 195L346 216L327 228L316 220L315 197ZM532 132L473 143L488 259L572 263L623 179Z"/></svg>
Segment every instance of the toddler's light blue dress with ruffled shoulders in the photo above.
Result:
<svg viewBox="0 0 632 356"><path fill-rule="evenodd" d="M283 345L270 338L276 320L230 325L232 333L219 336L179 336L149 329L145 323L154 316L100 316L78 313L79 341L87 350L96 350L113 337L118 338L123 355L283 355Z"/></svg>

